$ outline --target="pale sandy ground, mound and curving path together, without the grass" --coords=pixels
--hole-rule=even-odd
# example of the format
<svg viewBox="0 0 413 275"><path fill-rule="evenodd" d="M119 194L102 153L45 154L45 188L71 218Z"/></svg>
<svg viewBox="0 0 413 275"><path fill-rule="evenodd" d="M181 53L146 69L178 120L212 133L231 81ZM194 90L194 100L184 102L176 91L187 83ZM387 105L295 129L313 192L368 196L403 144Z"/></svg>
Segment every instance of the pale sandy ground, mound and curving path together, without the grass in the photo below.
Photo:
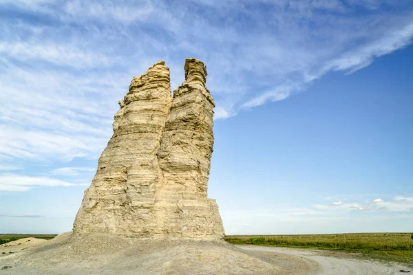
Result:
<svg viewBox="0 0 413 275"><path fill-rule="evenodd" d="M154 241L67 232L50 241L28 238L0 246L0 275L402 274L399 270L409 269L308 250L235 247L224 241Z"/></svg>

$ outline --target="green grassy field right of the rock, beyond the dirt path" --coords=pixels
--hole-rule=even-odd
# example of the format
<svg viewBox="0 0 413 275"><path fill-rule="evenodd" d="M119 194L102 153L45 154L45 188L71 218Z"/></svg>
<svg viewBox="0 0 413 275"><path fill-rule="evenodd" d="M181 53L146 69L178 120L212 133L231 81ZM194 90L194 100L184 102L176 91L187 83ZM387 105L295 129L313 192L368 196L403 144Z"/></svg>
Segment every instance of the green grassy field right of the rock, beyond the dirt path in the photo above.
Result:
<svg viewBox="0 0 413 275"><path fill-rule="evenodd" d="M412 233L360 233L316 235L229 235L235 245L268 245L284 248L313 248L357 252L380 261L395 261L413 267Z"/></svg>

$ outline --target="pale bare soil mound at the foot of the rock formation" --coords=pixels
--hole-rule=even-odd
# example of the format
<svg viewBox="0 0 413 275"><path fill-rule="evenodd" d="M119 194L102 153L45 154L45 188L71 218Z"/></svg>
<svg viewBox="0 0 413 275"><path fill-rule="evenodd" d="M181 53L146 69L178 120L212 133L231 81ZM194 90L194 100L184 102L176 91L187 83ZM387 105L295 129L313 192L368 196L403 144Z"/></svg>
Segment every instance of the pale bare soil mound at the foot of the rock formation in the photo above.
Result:
<svg viewBox="0 0 413 275"><path fill-rule="evenodd" d="M31 243L32 241L30 241ZM34 243L34 241L33 241ZM299 258L297 257L297 261ZM304 270L307 263L302 263ZM288 274L225 241L149 240L67 232L0 258L0 274Z"/></svg>

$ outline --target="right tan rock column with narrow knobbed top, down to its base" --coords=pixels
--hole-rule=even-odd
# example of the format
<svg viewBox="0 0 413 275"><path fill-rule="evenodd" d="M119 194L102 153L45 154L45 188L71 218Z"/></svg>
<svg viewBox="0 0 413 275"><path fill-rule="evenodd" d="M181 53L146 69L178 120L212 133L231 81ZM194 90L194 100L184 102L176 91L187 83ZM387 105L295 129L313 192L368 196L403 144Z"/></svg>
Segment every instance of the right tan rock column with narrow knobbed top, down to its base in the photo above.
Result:
<svg viewBox="0 0 413 275"><path fill-rule="evenodd" d="M222 221L215 201L207 199L215 104L204 63L188 58L184 69L186 81L173 91L158 151L163 180L156 193L157 233L216 239L224 234Z"/></svg>

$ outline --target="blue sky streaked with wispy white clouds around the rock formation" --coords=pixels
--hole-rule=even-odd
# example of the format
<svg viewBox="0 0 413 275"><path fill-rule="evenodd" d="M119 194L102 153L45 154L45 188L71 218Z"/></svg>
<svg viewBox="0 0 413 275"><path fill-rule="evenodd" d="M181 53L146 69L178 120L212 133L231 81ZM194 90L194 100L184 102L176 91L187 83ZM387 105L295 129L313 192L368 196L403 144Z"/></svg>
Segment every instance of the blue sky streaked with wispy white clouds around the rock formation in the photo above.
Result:
<svg viewBox="0 0 413 275"><path fill-rule="evenodd" d="M413 228L412 1L0 0L0 232L72 229L133 76L207 65L227 234Z"/></svg>

